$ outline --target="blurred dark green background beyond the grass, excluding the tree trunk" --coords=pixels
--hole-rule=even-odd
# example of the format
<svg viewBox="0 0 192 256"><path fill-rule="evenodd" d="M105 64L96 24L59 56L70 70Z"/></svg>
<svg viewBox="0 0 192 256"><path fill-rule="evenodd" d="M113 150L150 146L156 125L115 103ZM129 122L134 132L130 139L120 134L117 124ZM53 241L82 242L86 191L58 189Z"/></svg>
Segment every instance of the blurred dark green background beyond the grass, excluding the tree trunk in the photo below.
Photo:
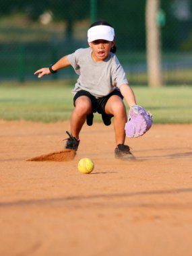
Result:
<svg viewBox="0 0 192 256"><path fill-rule="evenodd" d="M115 28L117 57L130 84L148 84L146 2L0 0L0 82L36 79L36 69L87 47L90 24L106 20ZM155 22L163 84L192 84L192 0L161 0ZM44 79L75 77L68 67Z"/></svg>

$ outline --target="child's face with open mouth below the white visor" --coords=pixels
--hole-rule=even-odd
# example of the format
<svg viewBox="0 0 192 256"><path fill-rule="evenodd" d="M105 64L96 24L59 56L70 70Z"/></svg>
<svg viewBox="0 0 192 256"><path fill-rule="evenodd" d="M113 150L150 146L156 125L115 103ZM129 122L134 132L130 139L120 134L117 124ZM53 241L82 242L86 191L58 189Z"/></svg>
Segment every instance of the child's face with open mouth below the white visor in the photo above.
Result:
<svg viewBox="0 0 192 256"><path fill-rule="evenodd" d="M115 45L115 42L110 42L103 39L94 40L89 42L92 48L92 58L94 61L104 61L110 53L110 49Z"/></svg>

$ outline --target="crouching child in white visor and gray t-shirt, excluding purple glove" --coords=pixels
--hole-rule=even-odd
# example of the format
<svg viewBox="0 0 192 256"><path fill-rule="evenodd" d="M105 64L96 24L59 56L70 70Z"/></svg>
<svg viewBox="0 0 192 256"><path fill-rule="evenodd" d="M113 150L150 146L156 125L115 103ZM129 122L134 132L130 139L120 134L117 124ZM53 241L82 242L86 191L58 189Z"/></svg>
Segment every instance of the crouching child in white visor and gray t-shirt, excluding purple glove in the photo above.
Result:
<svg viewBox="0 0 192 256"><path fill-rule="evenodd" d="M79 133L85 121L92 125L93 113L97 112L102 115L105 125L110 125L110 119L114 117L115 157L133 158L129 146L124 144L127 112L123 98L130 108L136 105L136 100L125 71L114 54L116 46L113 27L108 22L94 22L88 30L88 44L90 47L78 49L34 74L40 78L71 65L79 75L72 90L75 108L71 114L71 134L67 132L69 138L65 148L77 150Z"/></svg>

